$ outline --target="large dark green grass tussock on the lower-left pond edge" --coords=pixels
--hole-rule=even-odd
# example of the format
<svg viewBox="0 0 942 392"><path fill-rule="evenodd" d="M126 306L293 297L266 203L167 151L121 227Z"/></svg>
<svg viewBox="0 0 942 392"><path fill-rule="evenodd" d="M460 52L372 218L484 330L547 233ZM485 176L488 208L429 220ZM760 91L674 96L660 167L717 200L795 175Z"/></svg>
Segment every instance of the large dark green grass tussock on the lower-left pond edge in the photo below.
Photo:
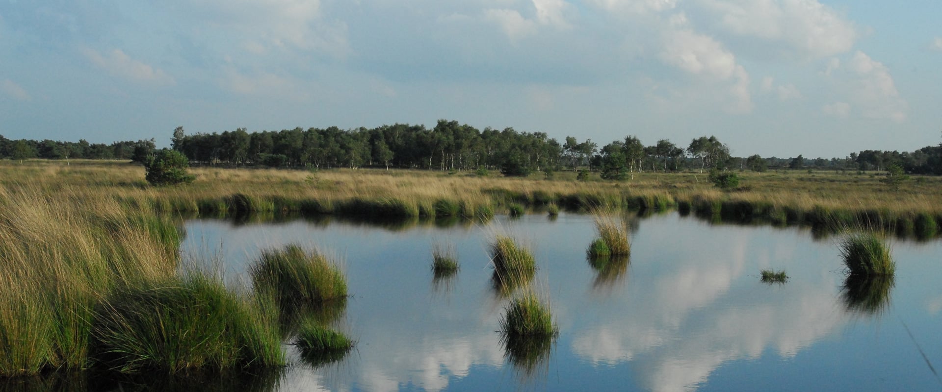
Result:
<svg viewBox="0 0 942 392"><path fill-rule="evenodd" d="M281 366L273 307L203 274L116 290L96 309L94 356L120 372Z"/></svg>

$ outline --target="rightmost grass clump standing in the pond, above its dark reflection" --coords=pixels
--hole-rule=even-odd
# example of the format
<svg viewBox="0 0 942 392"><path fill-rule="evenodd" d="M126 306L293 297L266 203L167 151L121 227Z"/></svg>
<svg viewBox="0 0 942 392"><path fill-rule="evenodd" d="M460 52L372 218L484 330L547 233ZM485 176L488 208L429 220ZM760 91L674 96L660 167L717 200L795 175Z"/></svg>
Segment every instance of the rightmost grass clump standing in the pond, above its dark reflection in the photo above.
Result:
<svg viewBox="0 0 942 392"><path fill-rule="evenodd" d="M853 233L840 242L844 265L854 276L892 275L896 263L890 258L883 239L870 232Z"/></svg>

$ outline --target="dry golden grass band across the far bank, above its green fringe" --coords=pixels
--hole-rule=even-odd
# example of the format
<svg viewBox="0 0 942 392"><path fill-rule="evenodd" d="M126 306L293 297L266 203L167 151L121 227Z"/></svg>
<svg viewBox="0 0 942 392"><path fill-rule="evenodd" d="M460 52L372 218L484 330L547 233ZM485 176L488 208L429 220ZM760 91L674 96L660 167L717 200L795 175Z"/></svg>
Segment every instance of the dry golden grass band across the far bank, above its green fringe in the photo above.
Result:
<svg viewBox="0 0 942 392"><path fill-rule="evenodd" d="M522 197L524 202L563 201L565 196L582 196L580 207L632 206L629 199L673 204L676 201L718 200L769 204L796 211L824 210L881 211L891 214L942 212L942 179L914 176L894 192L881 182L880 173L856 175L848 172L798 171L740 173L740 188L723 192L712 186L706 174L636 173L635 180L577 181L572 172L558 172L556 180L542 180L539 174L528 179L501 176L478 177L472 172L448 175L441 171L335 169L304 170L194 167L197 180L180 187L151 187L144 181L144 169L114 161L27 161L23 164L0 161L0 180L30 183L48 194L71 189L82 202L114 198L132 206L197 211L205 200L242 194L256 200L317 200L324 206L354 198L381 200L395 198L419 211L430 211L439 199L451 199L470 206L492 206L506 197ZM584 197L591 196L591 197ZM519 200L518 200L519 201ZM264 203L263 203L264 204ZM565 205L562 202L560 205ZM642 207L644 207L642 205ZM648 208L657 206L646 206Z"/></svg>

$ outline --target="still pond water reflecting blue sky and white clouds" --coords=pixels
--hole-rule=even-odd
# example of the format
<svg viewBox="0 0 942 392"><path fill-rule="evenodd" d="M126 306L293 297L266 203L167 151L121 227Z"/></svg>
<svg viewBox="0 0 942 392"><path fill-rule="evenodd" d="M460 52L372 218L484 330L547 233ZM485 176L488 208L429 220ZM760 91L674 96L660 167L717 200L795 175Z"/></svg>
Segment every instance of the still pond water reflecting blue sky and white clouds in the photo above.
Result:
<svg viewBox="0 0 942 392"><path fill-rule="evenodd" d="M292 365L256 390L940 390L942 243L891 241L892 287L845 288L836 239L798 227L636 221L627 263L586 259L593 220L530 214L486 225L187 222L181 252L221 260L232 285L262 249L297 243L339 260L352 294L344 359ZM531 360L505 355L487 242L508 233L537 259L533 284L560 335ZM462 265L430 271L433 243ZM785 284L760 282L785 270ZM292 348L288 347L291 351ZM942 368L940 368L942 370Z"/></svg>

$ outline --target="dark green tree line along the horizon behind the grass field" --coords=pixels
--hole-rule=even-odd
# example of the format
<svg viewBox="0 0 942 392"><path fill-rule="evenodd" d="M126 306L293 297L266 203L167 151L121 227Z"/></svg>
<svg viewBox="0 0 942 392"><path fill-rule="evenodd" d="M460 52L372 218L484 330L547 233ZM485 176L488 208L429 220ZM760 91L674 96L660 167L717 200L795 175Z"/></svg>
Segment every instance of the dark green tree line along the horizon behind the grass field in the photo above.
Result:
<svg viewBox="0 0 942 392"><path fill-rule="evenodd" d="M863 150L844 158L807 159L735 157L715 136L693 138L677 145L669 139L644 146L628 135L599 147L592 139L568 136L563 143L546 133L518 132L513 128L478 130L454 120L439 120L434 128L393 124L377 128L342 130L337 127L295 128L248 132L244 128L222 133L173 130L171 148L195 165L255 165L295 168L398 167L435 170L499 170L506 175L528 175L536 170L589 168L603 178L630 178L641 171L777 168L885 170L899 165L906 172L942 175L942 145L912 152ZM144 163L155 151L154 139L120 141L110 145L53 140L9 140L0 135L0 158L127 159Z"/></svg>

